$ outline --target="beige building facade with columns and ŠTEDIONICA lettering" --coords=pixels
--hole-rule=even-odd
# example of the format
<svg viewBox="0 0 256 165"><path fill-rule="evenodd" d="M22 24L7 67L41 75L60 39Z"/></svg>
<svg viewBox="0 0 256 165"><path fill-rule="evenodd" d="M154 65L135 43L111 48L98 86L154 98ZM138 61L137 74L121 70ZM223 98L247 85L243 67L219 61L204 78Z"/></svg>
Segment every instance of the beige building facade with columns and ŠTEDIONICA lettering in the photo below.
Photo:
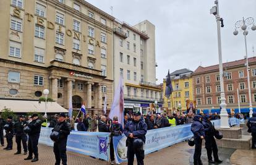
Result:
<svg viewBox="0 0 256 165"><path fill-rule="evenodd" d="M0 98L112 103L114 17L79 0L5 0L0 15Z"/></svg>

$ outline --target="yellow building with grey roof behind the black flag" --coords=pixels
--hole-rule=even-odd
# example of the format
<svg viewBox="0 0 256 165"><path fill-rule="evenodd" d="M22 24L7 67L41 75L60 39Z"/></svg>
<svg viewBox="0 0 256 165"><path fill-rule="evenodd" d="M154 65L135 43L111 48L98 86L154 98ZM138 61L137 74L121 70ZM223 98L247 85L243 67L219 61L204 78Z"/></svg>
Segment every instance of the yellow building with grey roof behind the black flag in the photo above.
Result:
<svg viewBox="0 0 256 165"><path fill-rule="evenodd" d="M186 111L186 100L193 99L192 77L193 72L189 69L180 69L171 73L171 84L173 93L170 98L164 96L164 106L166 110L182 109ZM166 88L166 79L163 80L163 93Z"/></svg>

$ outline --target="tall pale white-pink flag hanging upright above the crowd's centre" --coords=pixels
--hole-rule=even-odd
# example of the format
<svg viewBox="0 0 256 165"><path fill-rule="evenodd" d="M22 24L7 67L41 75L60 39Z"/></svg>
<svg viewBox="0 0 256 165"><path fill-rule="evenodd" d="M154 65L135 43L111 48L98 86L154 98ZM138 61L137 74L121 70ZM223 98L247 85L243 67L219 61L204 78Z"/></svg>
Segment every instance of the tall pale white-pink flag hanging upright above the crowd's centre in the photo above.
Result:
<svg viewBox="0 0 256 165"><path fill-rule="evenodd" d="M119 84L114 92L114 99L109 112L109 118L118 117L118 121L124 126L124 82L122 77L119 78Z"/></svg>

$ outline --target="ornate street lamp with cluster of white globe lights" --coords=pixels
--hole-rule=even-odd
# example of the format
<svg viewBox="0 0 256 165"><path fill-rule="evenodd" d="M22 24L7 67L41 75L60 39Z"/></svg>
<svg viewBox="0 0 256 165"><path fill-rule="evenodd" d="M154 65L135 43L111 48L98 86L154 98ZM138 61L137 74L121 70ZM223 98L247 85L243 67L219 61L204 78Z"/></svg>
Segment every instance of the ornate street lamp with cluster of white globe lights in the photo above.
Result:
<svg viewBox="0 0 256 165"><path fill-rule="evenodd" d="M250 74L249 74L249 64L248 64L248 56L247 56L247 41L246 41L246 36L248 35L248 31L247 31L247 27L249 27L250 25L252 25L252 30L256 30L256 25L254 24L254 18L249 17L247 19L244 19L244 17L242 17L242 20L238 20L235 23L235 30L233 32L234 35L238 34L238 30L239 28L241 28L244 32L242 33L244 35L244 44L245 44L245 59L246 59L246 69L247 69L247 83L248 83L248 92L249 92L249 102L250 102L250 117L252 117L252 94L250 93Z"/></svg>

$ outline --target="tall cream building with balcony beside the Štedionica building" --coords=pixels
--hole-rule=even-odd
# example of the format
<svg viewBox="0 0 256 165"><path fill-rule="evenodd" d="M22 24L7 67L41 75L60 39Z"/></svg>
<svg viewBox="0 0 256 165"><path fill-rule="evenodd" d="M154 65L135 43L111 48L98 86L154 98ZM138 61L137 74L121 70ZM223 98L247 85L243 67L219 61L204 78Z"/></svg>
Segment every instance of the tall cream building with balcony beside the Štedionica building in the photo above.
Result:
<svg viewBox="0 0 256 165"><path fill-rule="evenodd" d="M155 25L144 20L131 26L116 19L113 32L114 89L122 76L125 111L146 114L155 101L162 106L161 87L156 85Z"/></svg>

